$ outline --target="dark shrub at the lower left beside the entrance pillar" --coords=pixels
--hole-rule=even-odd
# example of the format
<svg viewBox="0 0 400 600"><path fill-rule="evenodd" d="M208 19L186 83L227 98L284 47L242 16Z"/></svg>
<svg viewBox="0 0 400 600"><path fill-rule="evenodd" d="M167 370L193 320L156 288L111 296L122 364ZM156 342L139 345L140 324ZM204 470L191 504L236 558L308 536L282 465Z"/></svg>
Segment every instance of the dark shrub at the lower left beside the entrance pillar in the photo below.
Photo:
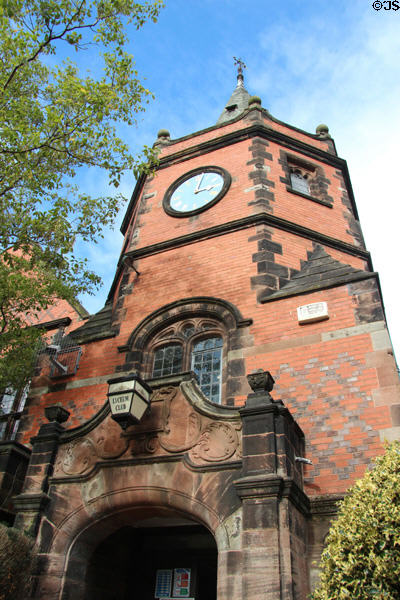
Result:
<svg viewBox="0 0 400 600"><path fill-rule="evenodd" d="M0 600L26 600L35 549L32 538L0 523Z"/></svg>

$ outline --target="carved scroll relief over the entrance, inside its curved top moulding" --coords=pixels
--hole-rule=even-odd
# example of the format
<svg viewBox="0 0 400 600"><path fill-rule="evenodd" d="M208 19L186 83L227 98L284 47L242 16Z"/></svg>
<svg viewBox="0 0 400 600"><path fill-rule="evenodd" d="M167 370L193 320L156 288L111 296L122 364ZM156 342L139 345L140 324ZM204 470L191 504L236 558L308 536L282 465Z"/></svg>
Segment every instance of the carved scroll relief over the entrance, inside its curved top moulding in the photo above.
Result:
<svg viewBox="0 0 400 600"><path fill-rule="evenodd" d="M83 475L101 459L121 457L128 447L135 457L187 453L195 465L240 459L240 419L227 422L201 414L175 386L157 389L152 404L153 420L132 428L128 436L108 416L83 438L61 446L54 476Z"/></svg>

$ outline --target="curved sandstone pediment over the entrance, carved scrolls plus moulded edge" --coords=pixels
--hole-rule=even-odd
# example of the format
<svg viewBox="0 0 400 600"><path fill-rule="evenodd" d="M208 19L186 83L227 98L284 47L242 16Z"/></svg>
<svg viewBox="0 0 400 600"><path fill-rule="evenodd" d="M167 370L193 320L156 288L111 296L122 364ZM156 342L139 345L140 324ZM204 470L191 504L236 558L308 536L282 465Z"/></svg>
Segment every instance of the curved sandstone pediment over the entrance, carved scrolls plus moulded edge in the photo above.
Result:
<svg viewBox="0 0 400 600"><path fill-rule="evenodd" d="M87 478L103 467L183 461L189 469L226 468L241 460L241 419L233 408L209 402L191 373L152 382L151 407L122 431L108 405L62 435L53 481Z"/></svg>

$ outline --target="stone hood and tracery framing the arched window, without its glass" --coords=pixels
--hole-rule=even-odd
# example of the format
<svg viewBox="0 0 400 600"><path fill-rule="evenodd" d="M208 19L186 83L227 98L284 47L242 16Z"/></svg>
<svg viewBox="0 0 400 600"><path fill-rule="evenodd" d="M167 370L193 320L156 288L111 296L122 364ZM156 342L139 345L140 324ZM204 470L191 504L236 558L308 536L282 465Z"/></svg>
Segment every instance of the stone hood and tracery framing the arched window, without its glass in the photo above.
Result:
<svg viewBox="0 0 400 600"><path fill-rule="evenodd" d="M247 393L247 380L244 358L232 350L238 351L251 343L248 329L251 324L251 319L245 319L237 307L221 298L194 296L171 302L147 315L133 329L127 343L118 347L125 353L125 362L118 371L137 372L159 388L165 382L162 377L153 377L157 349L173 343L181 345L184 373L191 370L191 350L195 344L219 337L222 340L220 402L233 406L236 397L245 393L243 390Z"/></svg>

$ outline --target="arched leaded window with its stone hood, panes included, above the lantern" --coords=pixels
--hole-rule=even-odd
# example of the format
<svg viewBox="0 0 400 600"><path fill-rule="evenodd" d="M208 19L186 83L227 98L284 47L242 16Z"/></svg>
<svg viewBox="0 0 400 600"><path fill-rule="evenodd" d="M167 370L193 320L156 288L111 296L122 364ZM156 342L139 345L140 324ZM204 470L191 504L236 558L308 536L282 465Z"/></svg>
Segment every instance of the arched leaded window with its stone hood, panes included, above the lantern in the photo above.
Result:
<svg viewBox="0 0 400 600"><path fill-rule="evenodd" d="M123 370L136 371L145 381L152 379L150 385L156 389L175 385L182 373L194 369L210 401L232 406L247 381L244 358L231 350L247 347L251 324L251 319L244 319L235 306L219 298L196 296L171 302L145 317L127 343L118 347L126 353ZM212 347L205 347L207 340ZM211 357L207 351L212 351ZM210 382L203 371L211 372ZM213 389L217 384L218 392Z"/></svg>

